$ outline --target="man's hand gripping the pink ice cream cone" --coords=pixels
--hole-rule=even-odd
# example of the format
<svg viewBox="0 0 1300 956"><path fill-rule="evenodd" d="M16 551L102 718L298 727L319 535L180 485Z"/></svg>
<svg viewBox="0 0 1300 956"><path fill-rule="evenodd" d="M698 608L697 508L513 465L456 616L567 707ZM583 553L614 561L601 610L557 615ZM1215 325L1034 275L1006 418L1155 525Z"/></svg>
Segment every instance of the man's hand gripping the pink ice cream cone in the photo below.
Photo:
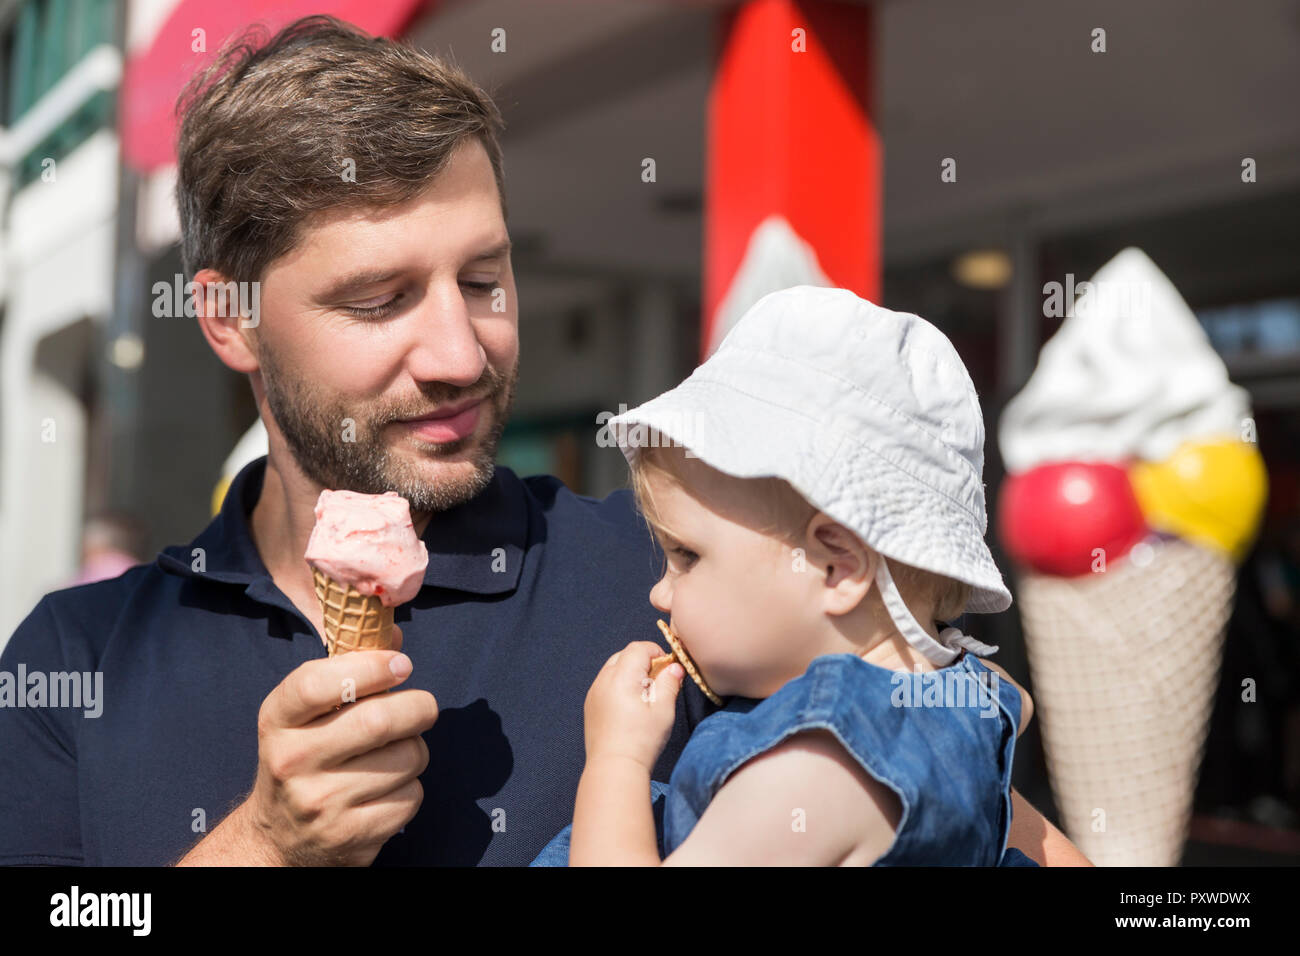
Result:
<svg viewBox="0 0 1300 956"><path fill-rule="evenodd" d="M394 650L355 650L289 674L257 714L252 792L179 865L373 862L424 800L417 778L429 748L420 735L438 705L426 691L384 693L410 674L411 659Z"/></svg>

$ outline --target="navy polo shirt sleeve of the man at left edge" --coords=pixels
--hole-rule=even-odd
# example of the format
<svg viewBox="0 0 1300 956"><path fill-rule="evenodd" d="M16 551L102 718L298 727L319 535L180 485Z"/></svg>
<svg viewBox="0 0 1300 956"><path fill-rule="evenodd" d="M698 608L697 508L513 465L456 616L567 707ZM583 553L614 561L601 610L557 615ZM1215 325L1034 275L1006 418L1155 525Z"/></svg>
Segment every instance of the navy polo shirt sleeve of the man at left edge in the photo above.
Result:
<svg viewBox="0 0 1300 956"><path fill-rule="evenodd" d="M84 670L84 662L66 661L66 652L47 596L0 654L0 865L83 862L72 730L82 714L17 706L27 689L18 685L20 672Z"/></svg>

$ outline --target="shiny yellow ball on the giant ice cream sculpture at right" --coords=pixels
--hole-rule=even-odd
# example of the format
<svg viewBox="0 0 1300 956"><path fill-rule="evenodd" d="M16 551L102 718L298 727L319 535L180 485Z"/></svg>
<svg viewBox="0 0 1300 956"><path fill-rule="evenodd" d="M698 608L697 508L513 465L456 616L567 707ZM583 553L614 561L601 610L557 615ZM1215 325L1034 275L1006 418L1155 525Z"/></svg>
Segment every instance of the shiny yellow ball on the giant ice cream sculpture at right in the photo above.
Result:
<svg viewBox="0 0 1300 956"><path fill-rule="evenodd" d="M1240 562L1254 540L1269 479L1253 442L1184 442L1164 462L1128 471L1147 523Z"/></svg>

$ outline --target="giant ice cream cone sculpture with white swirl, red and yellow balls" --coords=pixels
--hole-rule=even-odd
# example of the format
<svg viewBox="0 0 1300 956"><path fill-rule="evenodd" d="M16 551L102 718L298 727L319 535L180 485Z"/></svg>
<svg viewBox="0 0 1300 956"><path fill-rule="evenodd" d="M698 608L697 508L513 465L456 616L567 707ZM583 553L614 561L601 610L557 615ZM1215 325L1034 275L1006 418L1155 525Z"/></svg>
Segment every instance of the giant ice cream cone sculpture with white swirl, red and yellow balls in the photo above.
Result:
<svg viewBox="0 0 1300 956"><path fill-rule="evenodd" d="M1098 865L1175 865L1266 494L1247 394L1128 248L1043 347L998 440L1000 533L1066 832Z"/></svg>

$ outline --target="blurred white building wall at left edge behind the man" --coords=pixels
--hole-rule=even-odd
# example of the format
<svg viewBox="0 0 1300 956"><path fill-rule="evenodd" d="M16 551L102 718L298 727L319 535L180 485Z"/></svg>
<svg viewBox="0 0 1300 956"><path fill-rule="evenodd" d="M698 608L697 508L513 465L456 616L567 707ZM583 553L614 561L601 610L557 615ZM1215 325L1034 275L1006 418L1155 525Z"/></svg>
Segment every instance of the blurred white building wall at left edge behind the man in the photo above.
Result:
<svg viewBox="0 0 1300 956"><path fill-rule="evenodd" d="M35 368L42 338L113 298L117 137L101 130L57 164L52 182L13 196L0 332L0 649L49 588L77 571L86 410ZM53 421L53 441L48 437ZM43 431L46 434L43 436Z"/></svg>

